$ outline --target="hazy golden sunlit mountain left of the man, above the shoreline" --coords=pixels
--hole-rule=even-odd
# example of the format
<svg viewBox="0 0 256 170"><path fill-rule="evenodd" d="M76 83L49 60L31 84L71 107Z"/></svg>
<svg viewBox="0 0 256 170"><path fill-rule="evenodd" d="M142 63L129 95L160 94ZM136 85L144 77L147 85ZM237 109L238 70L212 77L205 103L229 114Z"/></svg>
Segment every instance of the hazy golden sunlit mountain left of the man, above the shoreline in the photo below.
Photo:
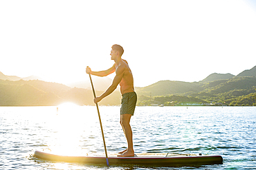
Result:
<svg viewBox="0 0 256 170"><path fill-rule="evenodd" d="M103 92L96 91L97 96ZM91 89L71 88L60 83L39 80L0 80L0 106L44 106L71 102L94 105ZM100 105L120 105L120 92L113 92Z"/></svg>

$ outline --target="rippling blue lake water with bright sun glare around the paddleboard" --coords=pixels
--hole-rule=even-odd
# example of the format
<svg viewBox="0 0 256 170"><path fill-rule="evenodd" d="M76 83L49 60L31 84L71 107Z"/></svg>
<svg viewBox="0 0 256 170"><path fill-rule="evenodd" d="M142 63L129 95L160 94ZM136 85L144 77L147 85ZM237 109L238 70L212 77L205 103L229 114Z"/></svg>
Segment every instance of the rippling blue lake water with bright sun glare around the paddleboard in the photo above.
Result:
<svg viewBox="0 0 256 170"><path fill-rule="evenodd" d="M120 107L100 107L108 152L127 146ZM256 107L136 107L131 118L137 153L221 155L200 167L104 167L49 162L35 150L104 153L95 107L0 107L0 169L256 169Z"/></svg>

